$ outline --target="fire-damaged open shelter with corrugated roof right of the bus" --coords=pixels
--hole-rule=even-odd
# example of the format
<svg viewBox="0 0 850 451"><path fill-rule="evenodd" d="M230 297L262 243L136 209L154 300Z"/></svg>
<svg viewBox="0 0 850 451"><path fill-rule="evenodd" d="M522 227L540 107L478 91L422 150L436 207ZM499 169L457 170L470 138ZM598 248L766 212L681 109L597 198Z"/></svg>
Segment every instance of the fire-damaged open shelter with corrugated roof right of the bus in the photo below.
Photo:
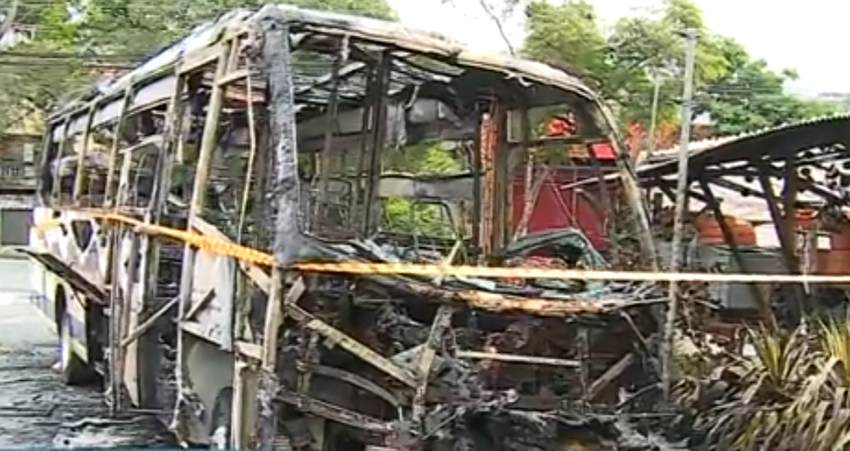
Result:
<svg viewBox="0 0 850 451"><path fill-rule="evenodd" d="M850 272L842 244L850 230L848 121L842 113L693 144L688 196L716 218L730 252L726 267L776 275ZM641 186L669 197L677 169L659 157L639 169ZM753 223L763 242L737 236L735 222L741 220ZM716 259L691 260L695 269L719 266ZM713 300L727 322L747 318L796 327L804 316L835 314L847 299L847 287L839 283L731 285L747 292Z"/></svg>

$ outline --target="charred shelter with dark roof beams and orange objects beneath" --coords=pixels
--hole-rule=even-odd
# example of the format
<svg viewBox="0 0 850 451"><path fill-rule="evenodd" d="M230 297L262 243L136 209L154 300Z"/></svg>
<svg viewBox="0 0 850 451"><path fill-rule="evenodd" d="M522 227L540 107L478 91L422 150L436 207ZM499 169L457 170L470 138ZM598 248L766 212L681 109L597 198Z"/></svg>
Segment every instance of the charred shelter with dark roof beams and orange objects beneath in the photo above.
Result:
<svg viewBox="0 0 850 451"><path fill-rule="evenodd" d="M841 113L690 143L686 267L777 279L850 273L848 125L850 116ZM658 243L669 241L669 213L681 177L678 152L657 152L637 168L641 187L652 197L650 221ZM615 184L619 178L604 177ZM584 180L569 187L596 184ZM730 347L743 344L742 327L794 328L806 316L843 314L848 299L840 281L711 282L690 288L690 303L701 306L691 309L685 329L715 335Z"/></svg>

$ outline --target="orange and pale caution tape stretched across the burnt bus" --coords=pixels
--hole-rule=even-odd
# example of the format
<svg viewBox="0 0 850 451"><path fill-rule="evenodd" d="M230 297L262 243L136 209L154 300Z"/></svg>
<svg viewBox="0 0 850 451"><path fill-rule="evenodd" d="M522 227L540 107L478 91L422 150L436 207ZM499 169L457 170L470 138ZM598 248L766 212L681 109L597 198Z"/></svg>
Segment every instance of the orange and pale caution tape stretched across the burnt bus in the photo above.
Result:
<svg viewBox="0 0 850 451"><path fill-rule="evenodd" d="M250 247L231 241L212 238L187 230L174 229L161 225L146 224L130 216L102 210L69 210L94 219L112 221L133 226L136 230L170 238L195 246L199 249L244 260L261 266L274 266L274 257ZM47 220L36 224L34 228L45 231L59 226L58 220ZM463 276L496 277L526 279L577 279L600 281L630 282L744 282L744 283L810 283L810 284L850 284L850 275L792 275L792 274L719 274L719 273L670 273L670 272L634 272L634 271L596 271L581 269L545 269L545 268L494 268L484 266L445 266L412 263L368 263L336 262L323 263L300 262L293 268L306 272L326 272L338 274L383 274L418 276Z"/></svg>

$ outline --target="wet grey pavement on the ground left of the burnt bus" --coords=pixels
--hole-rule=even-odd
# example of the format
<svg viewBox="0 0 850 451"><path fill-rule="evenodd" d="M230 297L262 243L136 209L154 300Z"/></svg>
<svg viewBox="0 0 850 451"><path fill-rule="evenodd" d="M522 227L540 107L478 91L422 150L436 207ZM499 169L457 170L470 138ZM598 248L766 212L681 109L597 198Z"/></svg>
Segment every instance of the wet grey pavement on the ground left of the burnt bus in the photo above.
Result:
<svg viewBox="0 0 850 451"><path fill-rule="evenodd" d="M98 388L67 387L51 371L57 340L28 301L22 265L0 260L0 448L174 448L156 420L110 418Z"/></svg>

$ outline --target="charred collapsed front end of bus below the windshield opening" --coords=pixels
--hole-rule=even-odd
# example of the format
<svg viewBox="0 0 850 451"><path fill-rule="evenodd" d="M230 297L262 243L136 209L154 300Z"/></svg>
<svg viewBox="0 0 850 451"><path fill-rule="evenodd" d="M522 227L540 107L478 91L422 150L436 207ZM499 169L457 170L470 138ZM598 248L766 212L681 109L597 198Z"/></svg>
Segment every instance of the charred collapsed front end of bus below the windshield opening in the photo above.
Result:
<svg viewBox="0 0 850 451"><path fill-rule="evenodd" d="M313 262L394 263L404 254L366 240L305 242ZM494 260L529 258L609 267L574 229L528 235ZM350 352L316 340L310 331L289 329L279 358L300 364L279 370L285 403L309 394L350 409L330 417L344 424L356 417L373 431L386 427L394 431L390 446L398 449L415 449L426 440L435 449L458 451L665 449L629 433L615 417L590 413L612 412L624 392L655 383L650 341L657 328L649 307L663 298L652 284L455 275L306 277L311 288L301 308L388 357L399 372L414 380L426 375L427 389L421 395L391 371L354 361ZM342 372L348 383L359 384L358 403L342 394L350 390L339 389L337 396L328 384L328 377ZM307 373L314 388L305 388Z"/></svg>

